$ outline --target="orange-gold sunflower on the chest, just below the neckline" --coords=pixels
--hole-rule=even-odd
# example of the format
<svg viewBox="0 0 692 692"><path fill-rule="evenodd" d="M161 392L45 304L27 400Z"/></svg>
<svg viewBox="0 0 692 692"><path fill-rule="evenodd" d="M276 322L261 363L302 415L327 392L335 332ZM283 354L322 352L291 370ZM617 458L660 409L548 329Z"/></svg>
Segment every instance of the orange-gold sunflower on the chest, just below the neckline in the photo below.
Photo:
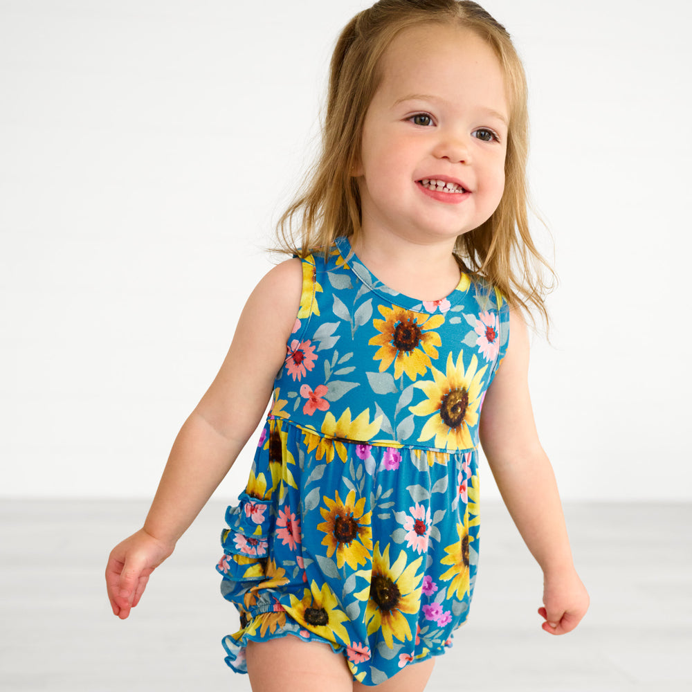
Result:
<svg viewBox="0 0 692 692"><path fill-rule="evenodd" d="M397 305L392 309L379 306L383 320L372 320L380 333L367 343L380 348L374 355L380 360L380 372L394 363L394 379L402 372L415 380L430 367L430 358L437 358L435 346L441 345L437 329L444 322L444 315L430 316L423 312L405 310Z"/></svg>

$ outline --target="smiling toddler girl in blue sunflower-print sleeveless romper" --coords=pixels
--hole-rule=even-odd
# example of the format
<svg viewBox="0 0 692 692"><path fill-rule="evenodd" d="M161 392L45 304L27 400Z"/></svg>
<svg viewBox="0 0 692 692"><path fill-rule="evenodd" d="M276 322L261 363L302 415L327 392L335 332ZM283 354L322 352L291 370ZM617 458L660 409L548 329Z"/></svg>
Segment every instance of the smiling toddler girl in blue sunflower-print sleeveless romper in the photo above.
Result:
<svg viewBox="0 0 692 692"><path fill-rule="evenodd" d="M479 441L543 569L543 629L579 623L588 596L527 388L522 311L545 307L526 156L522 67L482 8L381 0L349 22L322 156L280 221L293 257L253 291L143 529L111 552L116 615L271 397L217 567L240 613L226 662L255 691L424 689L473 594Z"/></svg>

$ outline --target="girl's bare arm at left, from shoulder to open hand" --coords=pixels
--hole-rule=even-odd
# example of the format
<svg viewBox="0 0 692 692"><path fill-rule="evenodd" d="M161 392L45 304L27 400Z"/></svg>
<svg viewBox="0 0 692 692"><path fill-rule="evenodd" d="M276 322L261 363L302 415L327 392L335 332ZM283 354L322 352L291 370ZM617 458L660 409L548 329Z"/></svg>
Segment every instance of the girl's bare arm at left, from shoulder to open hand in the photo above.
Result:
<svg viewBox="0 0 692 692"><path fill-rule="evenodd" d="M257 284L210 388L181 428L142 529L113 548L106 584L113 614L125 619L149 575L233 465L257 428L300 304L300 260L275 266Z"/></svg>

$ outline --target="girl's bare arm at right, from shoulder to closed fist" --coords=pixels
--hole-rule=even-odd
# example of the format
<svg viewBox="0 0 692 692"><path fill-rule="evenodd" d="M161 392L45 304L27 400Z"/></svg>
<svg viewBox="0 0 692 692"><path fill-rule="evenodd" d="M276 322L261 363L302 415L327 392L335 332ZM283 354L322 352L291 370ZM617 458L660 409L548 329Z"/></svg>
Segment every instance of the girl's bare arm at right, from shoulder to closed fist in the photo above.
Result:
<svg viewBox="0 0 692 692"><path fill-rule="evenodd" d="M504 504L543 570L543 629L570 632L589 597L572 563L570 542L552 466L540 446L529 397L529 337L512 311L507 354L483 403L480 440Z"/></svg>

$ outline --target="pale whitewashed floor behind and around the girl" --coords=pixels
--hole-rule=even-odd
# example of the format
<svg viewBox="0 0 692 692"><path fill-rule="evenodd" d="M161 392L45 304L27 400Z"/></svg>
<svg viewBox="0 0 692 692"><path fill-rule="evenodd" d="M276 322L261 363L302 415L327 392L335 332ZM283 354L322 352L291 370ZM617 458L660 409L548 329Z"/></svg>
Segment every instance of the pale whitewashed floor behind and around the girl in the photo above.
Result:
<svg viewBox="0 0 692 692"><path fill-rule="evenodd" d="M246 692L220 639L237 628L215 563L210 504L127 621L103 570L143 520L141 502L0 502L0 690ZM540 630L541 575L507 512L484 504L472 616L437 659L437 692L692 690L692 505L565 508L592 607L565 637Z"/></svg>

